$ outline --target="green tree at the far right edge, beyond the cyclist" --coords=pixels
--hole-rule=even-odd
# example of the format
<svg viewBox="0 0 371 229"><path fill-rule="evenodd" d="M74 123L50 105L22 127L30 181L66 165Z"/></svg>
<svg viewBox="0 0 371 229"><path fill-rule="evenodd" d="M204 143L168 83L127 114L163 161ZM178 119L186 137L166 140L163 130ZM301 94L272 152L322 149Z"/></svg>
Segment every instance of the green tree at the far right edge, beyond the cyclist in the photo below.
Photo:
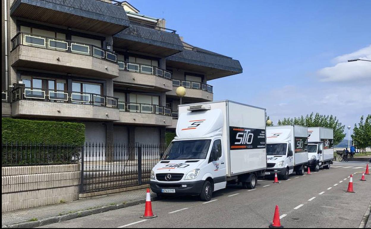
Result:
<svg viewBox="0 0 371 229"><path fill-rule="evenodd" d="M365 120L362 115L358 127L354 124L352 140L353 144L363 151L371 146L371 114L368 114Z"/></svg>

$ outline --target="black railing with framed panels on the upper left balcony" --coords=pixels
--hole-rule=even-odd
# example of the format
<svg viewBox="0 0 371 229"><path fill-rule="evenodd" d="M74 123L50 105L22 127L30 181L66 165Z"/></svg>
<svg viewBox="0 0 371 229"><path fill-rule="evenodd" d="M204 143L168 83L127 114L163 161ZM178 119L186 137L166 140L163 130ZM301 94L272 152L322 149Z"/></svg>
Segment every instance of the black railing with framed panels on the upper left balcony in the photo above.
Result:
<svg viewBox="0 0 371 229"><path fill-rule="evenodd" d="M71 40L62 40L54 37L38 36L30 33L17 33L12 39L12 50L19 45L76 53L117 62L117 55L108 50L94 45L73 42Z"/></svg>

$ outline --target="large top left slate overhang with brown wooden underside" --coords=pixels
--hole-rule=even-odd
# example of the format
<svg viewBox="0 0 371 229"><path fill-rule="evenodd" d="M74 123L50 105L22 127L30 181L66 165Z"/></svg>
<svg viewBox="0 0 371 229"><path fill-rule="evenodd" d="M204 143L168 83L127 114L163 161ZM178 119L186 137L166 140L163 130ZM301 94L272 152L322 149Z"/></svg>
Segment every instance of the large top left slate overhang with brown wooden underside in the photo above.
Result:
<svg viewBox="0 0 371 229"><path fill-rule="evenodd" d="M107 35L130 25L122 6L99 0L15 0L10 15Z"/></svg>

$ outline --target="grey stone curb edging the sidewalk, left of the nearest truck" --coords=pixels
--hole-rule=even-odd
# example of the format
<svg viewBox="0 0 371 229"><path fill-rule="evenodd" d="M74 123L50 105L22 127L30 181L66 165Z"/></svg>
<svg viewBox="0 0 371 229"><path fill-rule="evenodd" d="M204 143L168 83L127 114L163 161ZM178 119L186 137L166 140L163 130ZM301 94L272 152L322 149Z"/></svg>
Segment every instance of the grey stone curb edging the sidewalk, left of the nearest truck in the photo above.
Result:
<svg viewBox="0 0 371 229"><path fill-rule="evenodd" d="M156 201L159 199L161 198L157 196L151 196L152 201ZM48 225L52 223L59 223L59 222L63 222L63 221L70 220L70 219L76 219L79 217L90 216L90 215L95 215L95 214L99 214L102 212L108 212L111 210L117 210L117 209L121 209L125 207L139 205L141 203L145 203L145 198L137 199L137 200L130 200L128 202L117 203L115 205L95 207L92 209L76 211L73 213L67 213L67 214L59 215L59 216L46 217L46 218L36 220L36 221L27 221L27 222L22 222L22 223L2 225L1 228L35 228L38 226L44 226L44 225Z"/></svg>

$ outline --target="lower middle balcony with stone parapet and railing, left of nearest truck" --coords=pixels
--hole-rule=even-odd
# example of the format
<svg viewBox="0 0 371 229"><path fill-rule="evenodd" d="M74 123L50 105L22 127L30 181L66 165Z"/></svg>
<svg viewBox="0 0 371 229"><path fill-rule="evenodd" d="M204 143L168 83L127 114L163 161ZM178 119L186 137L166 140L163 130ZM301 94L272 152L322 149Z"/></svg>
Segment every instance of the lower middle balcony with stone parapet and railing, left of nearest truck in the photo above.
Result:
<svg viewBox="0 0 371 229"><path fill-rule="evenodd" d="M120 120L117 123L167 127L173 124L170 109L129 102L118 103Z"/></svg>

